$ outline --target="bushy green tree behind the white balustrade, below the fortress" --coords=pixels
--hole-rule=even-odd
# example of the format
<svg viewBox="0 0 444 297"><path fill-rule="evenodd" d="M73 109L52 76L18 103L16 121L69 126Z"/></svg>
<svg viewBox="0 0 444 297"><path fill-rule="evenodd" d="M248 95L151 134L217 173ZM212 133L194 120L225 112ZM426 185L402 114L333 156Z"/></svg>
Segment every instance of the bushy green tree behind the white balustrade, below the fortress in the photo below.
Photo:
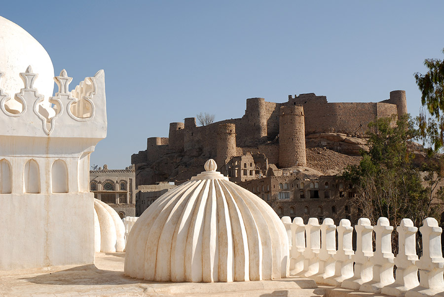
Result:
<svg viewBox="0 0 444 297"><path fill-rule="evenodd" d="M415 167L414 155L407 147L418 130L409 115L396 124L395 119L380 118L370 123L373 132L369 132L369 151L363 151L360 164L348 167L342 178L356 187L357 198L352 203L359 216L373 224L379 217L386 217L394 226L409 218L418 226L426 217L439 219L432 200L443 193L432 193L443 179L442 162L424 165L426 173Z"/></svg>

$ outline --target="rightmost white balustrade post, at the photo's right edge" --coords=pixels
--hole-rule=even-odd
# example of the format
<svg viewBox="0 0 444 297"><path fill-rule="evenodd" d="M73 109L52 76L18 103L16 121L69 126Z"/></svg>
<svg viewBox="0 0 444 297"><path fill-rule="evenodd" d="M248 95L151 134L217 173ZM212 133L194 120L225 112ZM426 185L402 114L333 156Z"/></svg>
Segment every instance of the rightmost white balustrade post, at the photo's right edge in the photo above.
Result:
<svg viewBox="0 0 444 297"><path fill-rule="evenodd" d="M422 235L422 256L416 262L419 268L419 287L407 291L406 297L444 296L444 258L441 251L443 229L435 219L426 218L419 232Z"/></svg>

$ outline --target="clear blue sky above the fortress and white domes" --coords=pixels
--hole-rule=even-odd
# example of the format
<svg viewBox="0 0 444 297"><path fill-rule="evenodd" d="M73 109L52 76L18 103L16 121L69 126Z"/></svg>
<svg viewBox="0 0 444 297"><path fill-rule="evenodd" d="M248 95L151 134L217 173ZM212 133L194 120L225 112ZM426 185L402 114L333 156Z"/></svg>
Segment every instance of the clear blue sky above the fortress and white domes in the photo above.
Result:
<svg viewBox="0 0 444 297"><path fill-rule="evenodd" d="M377 102L443 58L444 1L3 1L0 15L75 86L104 69L108 137L91 164L124 168L148 137L199 112L241 117L246 99Z"/></svg>

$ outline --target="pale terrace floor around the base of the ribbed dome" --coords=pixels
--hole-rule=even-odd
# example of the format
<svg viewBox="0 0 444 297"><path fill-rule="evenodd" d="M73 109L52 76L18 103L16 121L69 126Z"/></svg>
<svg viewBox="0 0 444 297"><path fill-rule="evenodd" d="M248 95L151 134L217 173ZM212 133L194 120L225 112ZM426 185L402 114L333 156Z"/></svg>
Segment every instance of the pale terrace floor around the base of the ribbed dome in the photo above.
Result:
<svg viewBox="0 0 444 297"><path fill-rule="evenodd" d="M0 271L0 296L376 297L316 286L299 277L234 283L154 283L123 276L124 253L96 254L94 265Z"/></svg>

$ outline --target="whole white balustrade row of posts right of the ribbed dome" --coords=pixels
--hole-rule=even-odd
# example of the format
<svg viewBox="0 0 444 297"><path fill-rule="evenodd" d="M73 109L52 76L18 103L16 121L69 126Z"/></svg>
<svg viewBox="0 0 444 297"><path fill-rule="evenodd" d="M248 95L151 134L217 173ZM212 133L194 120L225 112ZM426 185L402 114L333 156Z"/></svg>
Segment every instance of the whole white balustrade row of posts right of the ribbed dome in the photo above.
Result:
<svg viewBox="0 0 444 297"><path fill-rule="evenodd" d="M387 218L379 218L376 226L371 226L367 218L358 220L356 253L352 248L353 227L349 220L341 220L337 228L332 219L325 219L322 225L316 218L310 218L306 225L301 218L282 221L289 234L292 275L310 277L319 284L388 296L444 297L442 228L433 218L425 219L419 228L422 235L419 259L416 255L418 228L410 219L402 220L396 228L399 245L396 258L391 245L393 226Z"/></svg>

